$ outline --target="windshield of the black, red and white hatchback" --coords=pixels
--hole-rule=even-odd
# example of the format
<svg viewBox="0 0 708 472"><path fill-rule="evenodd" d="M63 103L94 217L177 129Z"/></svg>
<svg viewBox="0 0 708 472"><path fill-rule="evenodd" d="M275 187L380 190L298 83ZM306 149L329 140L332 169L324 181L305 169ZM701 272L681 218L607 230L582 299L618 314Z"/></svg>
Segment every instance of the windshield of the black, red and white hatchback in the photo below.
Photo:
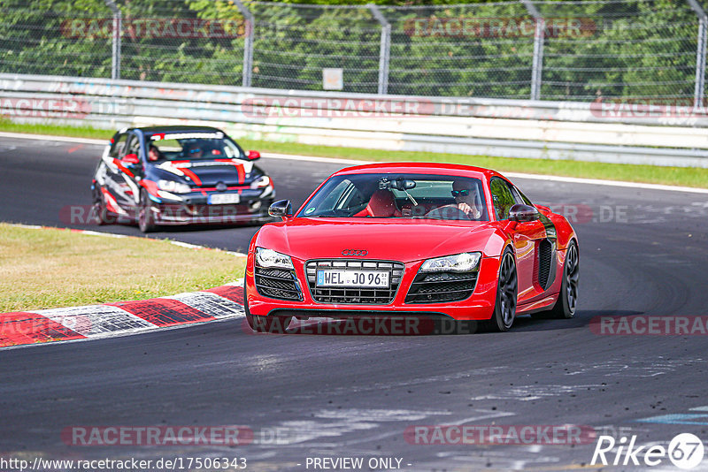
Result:
<svg viewBox="0 0 708 472"><path fill-rule="evenodd" d="M224 133L154 133L146 137L148 160L194 161L244 158L242 148Z"/></svg>

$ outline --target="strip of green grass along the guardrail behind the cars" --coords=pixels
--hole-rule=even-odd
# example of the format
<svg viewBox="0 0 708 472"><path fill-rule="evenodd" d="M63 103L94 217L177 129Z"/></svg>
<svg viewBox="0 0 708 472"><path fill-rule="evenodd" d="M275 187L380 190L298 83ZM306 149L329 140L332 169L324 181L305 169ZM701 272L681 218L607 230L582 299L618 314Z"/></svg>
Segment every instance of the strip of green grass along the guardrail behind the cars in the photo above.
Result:
<svg viewBox="0 0 708 472"><path fill-rule="evenodd" d="M37 133L83 138L109 139L113 130L99 130L89 126L20 125L0 118L0 131ZM304 156L338 157L365 161L423 161L477 165L496 171L527 172L535 174L581 177L586 179L626 180L682 187L708 188L708 169L687 167L658 167L635 164L604 164L551 159L522 159L493 156L466 156L412 151L382 151L365 148L312 146L294 142L238 140L243 148L261 152L299 154Z"/></svg>

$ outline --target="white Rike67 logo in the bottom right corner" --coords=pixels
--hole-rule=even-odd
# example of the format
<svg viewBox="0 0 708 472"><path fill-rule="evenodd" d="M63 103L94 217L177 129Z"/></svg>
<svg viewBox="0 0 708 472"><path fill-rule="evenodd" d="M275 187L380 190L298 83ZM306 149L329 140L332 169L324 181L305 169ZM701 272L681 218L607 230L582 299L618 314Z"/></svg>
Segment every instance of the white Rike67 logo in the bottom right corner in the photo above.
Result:
<svg viewBox="0 0 708 472"><path fill-rule="evenodd" d="M600 436L590 465L655 467L667 465L668 459L675 467L689 470L696 468L703 457L703 442L691 433L676 435L668 447L657 444L637 445L636 435L631 438L622 437L619 441L612 436Z"/></svg>

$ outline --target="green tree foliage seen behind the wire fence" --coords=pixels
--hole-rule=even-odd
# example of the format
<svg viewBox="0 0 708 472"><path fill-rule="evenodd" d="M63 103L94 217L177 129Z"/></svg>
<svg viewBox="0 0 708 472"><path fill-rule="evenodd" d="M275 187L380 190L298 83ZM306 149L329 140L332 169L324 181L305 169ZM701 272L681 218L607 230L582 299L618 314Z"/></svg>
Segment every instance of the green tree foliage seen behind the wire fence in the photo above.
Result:
<svg viewBox="0 0 708 472"><path fill-rule="evenodd" d="M704 7L708 2L702 0ZM229 0L117 0L130 19L242 21ZM375 93L381 27L368 0L244 2L255 16L254 87L320 90L342 67L344 91ZM420 36L411 19L530 19L519 2L375 0L391 23L389 93L527 98L533 37ZM547 37L542 98L686 98L696 76L696 13L684 0L537 1L545 18L589 19L580 37ZM110 19L103 0L2 0L0 72L111 77L112 38L66 37L72 19ZM121 78L239 86L244 39L122 36ZM703 71L703 73L705 73ZM688 103L688 102L687 102Z"/></svg>

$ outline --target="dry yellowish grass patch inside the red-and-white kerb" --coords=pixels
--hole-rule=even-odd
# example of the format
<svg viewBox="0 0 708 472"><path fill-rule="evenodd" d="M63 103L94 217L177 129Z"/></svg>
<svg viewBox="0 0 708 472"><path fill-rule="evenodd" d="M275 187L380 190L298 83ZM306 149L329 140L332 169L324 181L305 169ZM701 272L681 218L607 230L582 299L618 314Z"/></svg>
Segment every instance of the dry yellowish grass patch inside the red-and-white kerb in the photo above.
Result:
<svg viewBox="0 0 708 472"><path fill-rule="evenodd" d="M243 277L245 258L165 240L0 223L0 313L194 292Z"/></svg>

